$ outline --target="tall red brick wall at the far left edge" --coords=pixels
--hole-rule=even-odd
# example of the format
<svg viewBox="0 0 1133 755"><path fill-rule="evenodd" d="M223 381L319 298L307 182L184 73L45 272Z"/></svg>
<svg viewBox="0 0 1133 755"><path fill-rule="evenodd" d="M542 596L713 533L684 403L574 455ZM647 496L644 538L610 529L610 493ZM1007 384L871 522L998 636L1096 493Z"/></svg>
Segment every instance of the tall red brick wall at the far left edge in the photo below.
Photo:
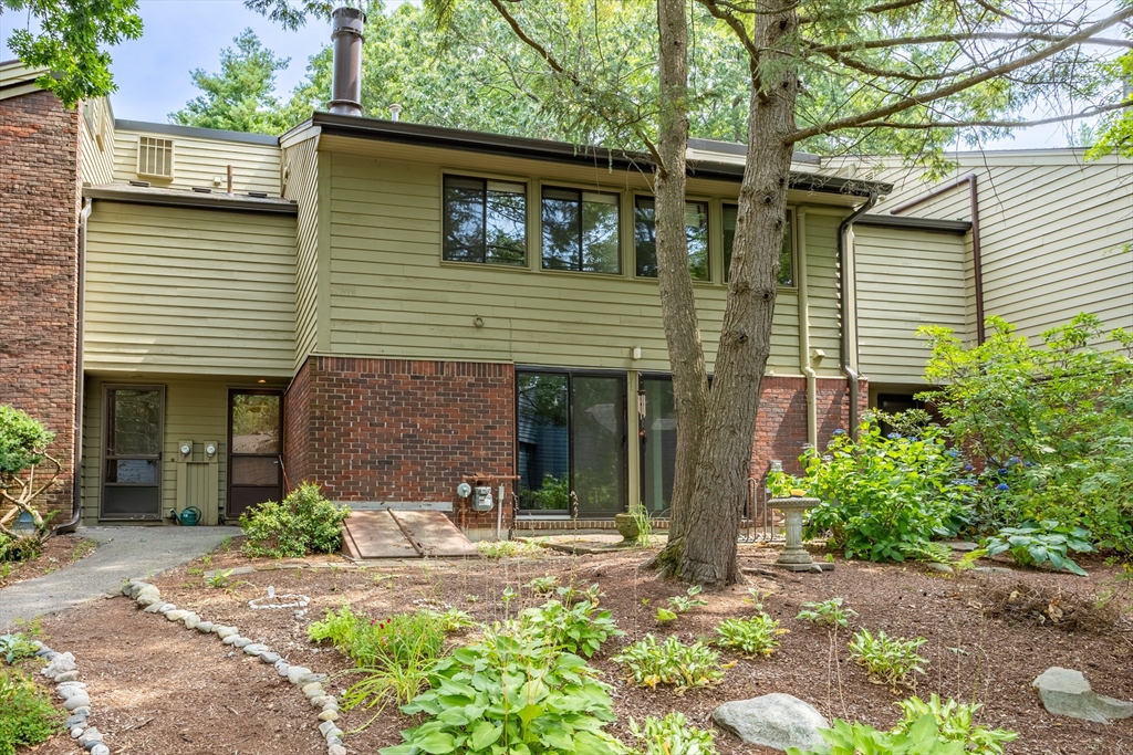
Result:
<svg viewBox="0 0 1133 755"><path fill-rule="evenodd" d="M56 434L57 523L71 507L79 187L77 111L46 92L0 100L0 403Z"/></svg>

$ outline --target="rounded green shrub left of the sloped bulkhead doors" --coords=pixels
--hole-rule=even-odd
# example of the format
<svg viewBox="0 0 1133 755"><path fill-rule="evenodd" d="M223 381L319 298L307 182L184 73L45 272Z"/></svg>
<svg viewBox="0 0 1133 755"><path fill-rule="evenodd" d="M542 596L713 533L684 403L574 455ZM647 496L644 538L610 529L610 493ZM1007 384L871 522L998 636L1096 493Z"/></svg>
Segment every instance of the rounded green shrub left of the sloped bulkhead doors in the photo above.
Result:
<svg viewBox="0 0 1133 755"><path fill-rule="evenodd" d="M301 558L308 551L330 554L342 547L342 522L350 516L323 498L318 486L304 482L282 503L270 500L240 515L248 556Z"/></svg>

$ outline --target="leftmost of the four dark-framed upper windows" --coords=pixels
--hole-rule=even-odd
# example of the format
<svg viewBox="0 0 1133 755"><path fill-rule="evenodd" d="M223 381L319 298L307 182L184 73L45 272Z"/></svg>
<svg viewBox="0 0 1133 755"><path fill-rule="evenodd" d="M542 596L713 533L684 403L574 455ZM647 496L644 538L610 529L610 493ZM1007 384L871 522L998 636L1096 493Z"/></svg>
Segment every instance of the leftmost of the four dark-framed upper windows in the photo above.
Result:
<svg viewBox="0 0 1133 755"><path fill-rule="evenodd" d="M527 264L527 187L445 175L444 258L454 263Z"/></svg>

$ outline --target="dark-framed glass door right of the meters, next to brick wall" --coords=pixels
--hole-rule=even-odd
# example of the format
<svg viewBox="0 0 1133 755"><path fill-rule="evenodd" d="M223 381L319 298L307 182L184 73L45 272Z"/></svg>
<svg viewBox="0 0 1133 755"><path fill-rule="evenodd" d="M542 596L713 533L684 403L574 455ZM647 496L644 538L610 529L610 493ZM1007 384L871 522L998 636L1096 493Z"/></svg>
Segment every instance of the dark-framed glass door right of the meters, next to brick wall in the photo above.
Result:
<svg viewBox="0 0 1133 755"><path fill-rule="evenodd" d="M283 394L229 391L228 505L237 518L250 506L283 495Z"/></svg>

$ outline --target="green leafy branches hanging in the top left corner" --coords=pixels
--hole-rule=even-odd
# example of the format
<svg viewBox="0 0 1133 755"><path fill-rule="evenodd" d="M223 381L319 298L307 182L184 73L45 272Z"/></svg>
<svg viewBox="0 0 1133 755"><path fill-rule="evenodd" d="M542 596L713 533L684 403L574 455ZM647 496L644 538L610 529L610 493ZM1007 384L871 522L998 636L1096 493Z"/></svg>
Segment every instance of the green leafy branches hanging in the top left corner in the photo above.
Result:
<svg viewBox="0 0 1133 755"><path fill-rule="evenodd" d="M137 0L0 0L0 31L32 18L39 32L15 28L8 46L29 68L46 68L36 81L68 108L114 91L105 45L142 36Z"/></svg>

